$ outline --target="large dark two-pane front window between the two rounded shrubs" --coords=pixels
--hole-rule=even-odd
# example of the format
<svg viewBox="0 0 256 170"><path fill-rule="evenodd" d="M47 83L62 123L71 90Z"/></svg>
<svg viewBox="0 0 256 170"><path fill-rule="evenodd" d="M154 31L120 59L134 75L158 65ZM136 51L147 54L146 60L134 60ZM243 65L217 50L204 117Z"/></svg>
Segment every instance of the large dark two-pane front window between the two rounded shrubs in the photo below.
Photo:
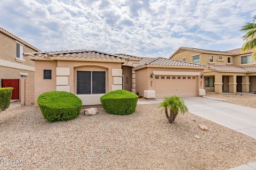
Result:
<svg viewBox="0 0 256 170"><path fill-rule="evenodd" d="M77 71L77 94L105 94L105 71Z"/></svg>

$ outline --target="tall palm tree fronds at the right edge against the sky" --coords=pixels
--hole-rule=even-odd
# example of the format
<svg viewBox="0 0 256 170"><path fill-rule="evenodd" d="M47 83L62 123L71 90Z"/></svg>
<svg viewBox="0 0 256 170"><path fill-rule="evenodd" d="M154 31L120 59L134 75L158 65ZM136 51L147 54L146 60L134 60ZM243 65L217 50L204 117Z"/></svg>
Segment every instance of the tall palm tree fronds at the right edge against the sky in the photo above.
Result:
<svg viewBox="0 0 256 170"><path fill-rule="evenodd" d="M243 25L240 31L245 32L243 36L245 43L242 47L242 52L253 49L253 59L256 61L256 15L254 15L252 22Z"/></svg>

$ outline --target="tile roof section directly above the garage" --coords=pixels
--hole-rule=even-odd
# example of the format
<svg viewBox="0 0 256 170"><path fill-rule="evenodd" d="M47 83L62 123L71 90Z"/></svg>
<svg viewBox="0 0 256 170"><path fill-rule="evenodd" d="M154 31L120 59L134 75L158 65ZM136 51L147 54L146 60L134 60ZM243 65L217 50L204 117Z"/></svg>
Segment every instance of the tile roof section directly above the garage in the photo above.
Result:
<svg viewBox="0 0 256 170"><path fill-rule="evenodd" d="M182 67L199 67L199 68L203 68L205 67L202 64L195 64L195 63L188 63L188 62L182 62L179 60L171 60L169 58L162 58L162 57L157 57L157 58L143 58L143 60L141 60L138 63L138 66L136 66L135 68L138 67L142 67L142 66L146 66L146 65L159 65L159 66L182 66Z"/></svg>

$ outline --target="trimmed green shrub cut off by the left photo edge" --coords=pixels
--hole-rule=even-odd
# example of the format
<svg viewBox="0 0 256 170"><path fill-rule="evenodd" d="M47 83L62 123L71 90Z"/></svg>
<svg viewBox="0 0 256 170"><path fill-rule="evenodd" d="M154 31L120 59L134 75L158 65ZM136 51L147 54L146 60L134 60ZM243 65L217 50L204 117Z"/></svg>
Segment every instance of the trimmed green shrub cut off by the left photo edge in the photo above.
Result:
<svg viewBox="0 0 256 170"><path fill-rule="evenodd" d="M4 111L10 106L12 90L12 87L0 88L0 111Z"/></svg>

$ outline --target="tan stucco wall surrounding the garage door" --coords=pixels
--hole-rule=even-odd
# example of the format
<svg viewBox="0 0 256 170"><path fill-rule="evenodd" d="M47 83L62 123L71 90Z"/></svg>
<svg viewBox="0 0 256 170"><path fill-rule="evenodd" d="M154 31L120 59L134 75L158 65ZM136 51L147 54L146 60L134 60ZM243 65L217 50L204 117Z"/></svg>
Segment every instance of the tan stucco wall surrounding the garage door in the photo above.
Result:
<svg viewBox="0 0 256 170"><path fill-rule="evenodd" d="M203 69L179 69L179 68L161 68L161 67L145 67L140 70L136 70L136 90L143 96L144 90L155 90L155 79L150 78L153 71L174 71L174 72L200 72L203 74ZM151 80L152 85L151 85ZM204 89L204 81L201 78L197 78L197 89ZM163 87L164 88L164 87ZM197 92L198 95L198 92Z"/></svg>

